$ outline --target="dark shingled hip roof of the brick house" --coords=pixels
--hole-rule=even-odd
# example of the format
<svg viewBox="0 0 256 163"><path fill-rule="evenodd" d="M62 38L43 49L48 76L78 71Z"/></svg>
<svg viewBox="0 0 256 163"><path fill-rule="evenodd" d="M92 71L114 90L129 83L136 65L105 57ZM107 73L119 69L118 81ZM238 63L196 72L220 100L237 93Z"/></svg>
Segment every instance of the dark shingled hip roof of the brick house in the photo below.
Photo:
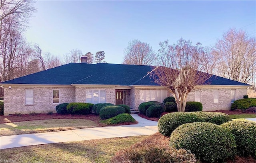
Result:
<svg viewBox="0 0 256 163"><path fill-rule="evenodd" d="M109 63L69 63L38 73L2 82L2 84L105 84L105 85L158 85L147 74L151 66ZM211 85L246 86L242 82L212 75L205 83Z"/></svg>

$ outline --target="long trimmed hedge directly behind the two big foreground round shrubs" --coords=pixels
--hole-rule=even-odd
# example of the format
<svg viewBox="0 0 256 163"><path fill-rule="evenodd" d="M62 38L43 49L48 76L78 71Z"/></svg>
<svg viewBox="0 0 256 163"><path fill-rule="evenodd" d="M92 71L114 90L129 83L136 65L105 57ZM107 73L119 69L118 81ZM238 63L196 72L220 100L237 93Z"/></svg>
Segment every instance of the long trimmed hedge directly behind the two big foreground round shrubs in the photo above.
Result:
<svg viewBox="0 0 256 163"><path fill-rule="evenodd" d="M171 133L180 125L192 122L210 122L216 125L231 121L224 113L218 112L174 112L163 115L158 120L158 131L164 136Z"/></svg>

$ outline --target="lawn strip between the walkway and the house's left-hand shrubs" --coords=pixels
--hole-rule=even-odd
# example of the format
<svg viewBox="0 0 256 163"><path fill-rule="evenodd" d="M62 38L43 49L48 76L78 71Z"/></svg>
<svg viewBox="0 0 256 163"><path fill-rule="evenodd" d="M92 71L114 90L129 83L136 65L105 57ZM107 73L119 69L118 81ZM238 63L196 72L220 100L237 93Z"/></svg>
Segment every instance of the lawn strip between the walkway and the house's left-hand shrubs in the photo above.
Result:
<svg viewBox="0 0 256 163"><path fill-rule="evenodd" d="M40 132L74 130L97 127L98 124L86 119L48 119L1 124L0 135L10 136Z"/></svg>

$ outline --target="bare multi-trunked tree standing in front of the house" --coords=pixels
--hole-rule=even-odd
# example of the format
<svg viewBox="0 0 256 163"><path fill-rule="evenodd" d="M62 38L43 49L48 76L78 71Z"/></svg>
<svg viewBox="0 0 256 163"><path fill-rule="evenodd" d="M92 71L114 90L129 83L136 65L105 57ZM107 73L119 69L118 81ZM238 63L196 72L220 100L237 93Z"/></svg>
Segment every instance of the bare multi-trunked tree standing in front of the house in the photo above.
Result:
<svg viewBox="0 0 256 163"><path fill-rule="evenodd" d="M174 96L179 112L184 112L188 93L198 84L203 84L210 74L203 73L200 57L202 47L193 46L191 41L180 39L177 44L160 42L157 56L158 67L153 67L156 83L167 87Z"/></svg>

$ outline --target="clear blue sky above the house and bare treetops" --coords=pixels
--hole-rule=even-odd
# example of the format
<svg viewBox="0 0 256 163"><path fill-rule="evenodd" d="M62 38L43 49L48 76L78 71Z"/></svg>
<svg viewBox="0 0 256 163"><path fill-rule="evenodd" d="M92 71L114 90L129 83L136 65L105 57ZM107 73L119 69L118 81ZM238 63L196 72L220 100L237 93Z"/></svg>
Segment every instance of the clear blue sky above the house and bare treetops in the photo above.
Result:
<svg viewBox="0 0 256 163"><path fill-rule="evenodd" d="M230 27L256 35L256 1L38 1L25 35L43 52L64 56L104 51L107 63L122 63L132 39L214 45Z"/></svg>

